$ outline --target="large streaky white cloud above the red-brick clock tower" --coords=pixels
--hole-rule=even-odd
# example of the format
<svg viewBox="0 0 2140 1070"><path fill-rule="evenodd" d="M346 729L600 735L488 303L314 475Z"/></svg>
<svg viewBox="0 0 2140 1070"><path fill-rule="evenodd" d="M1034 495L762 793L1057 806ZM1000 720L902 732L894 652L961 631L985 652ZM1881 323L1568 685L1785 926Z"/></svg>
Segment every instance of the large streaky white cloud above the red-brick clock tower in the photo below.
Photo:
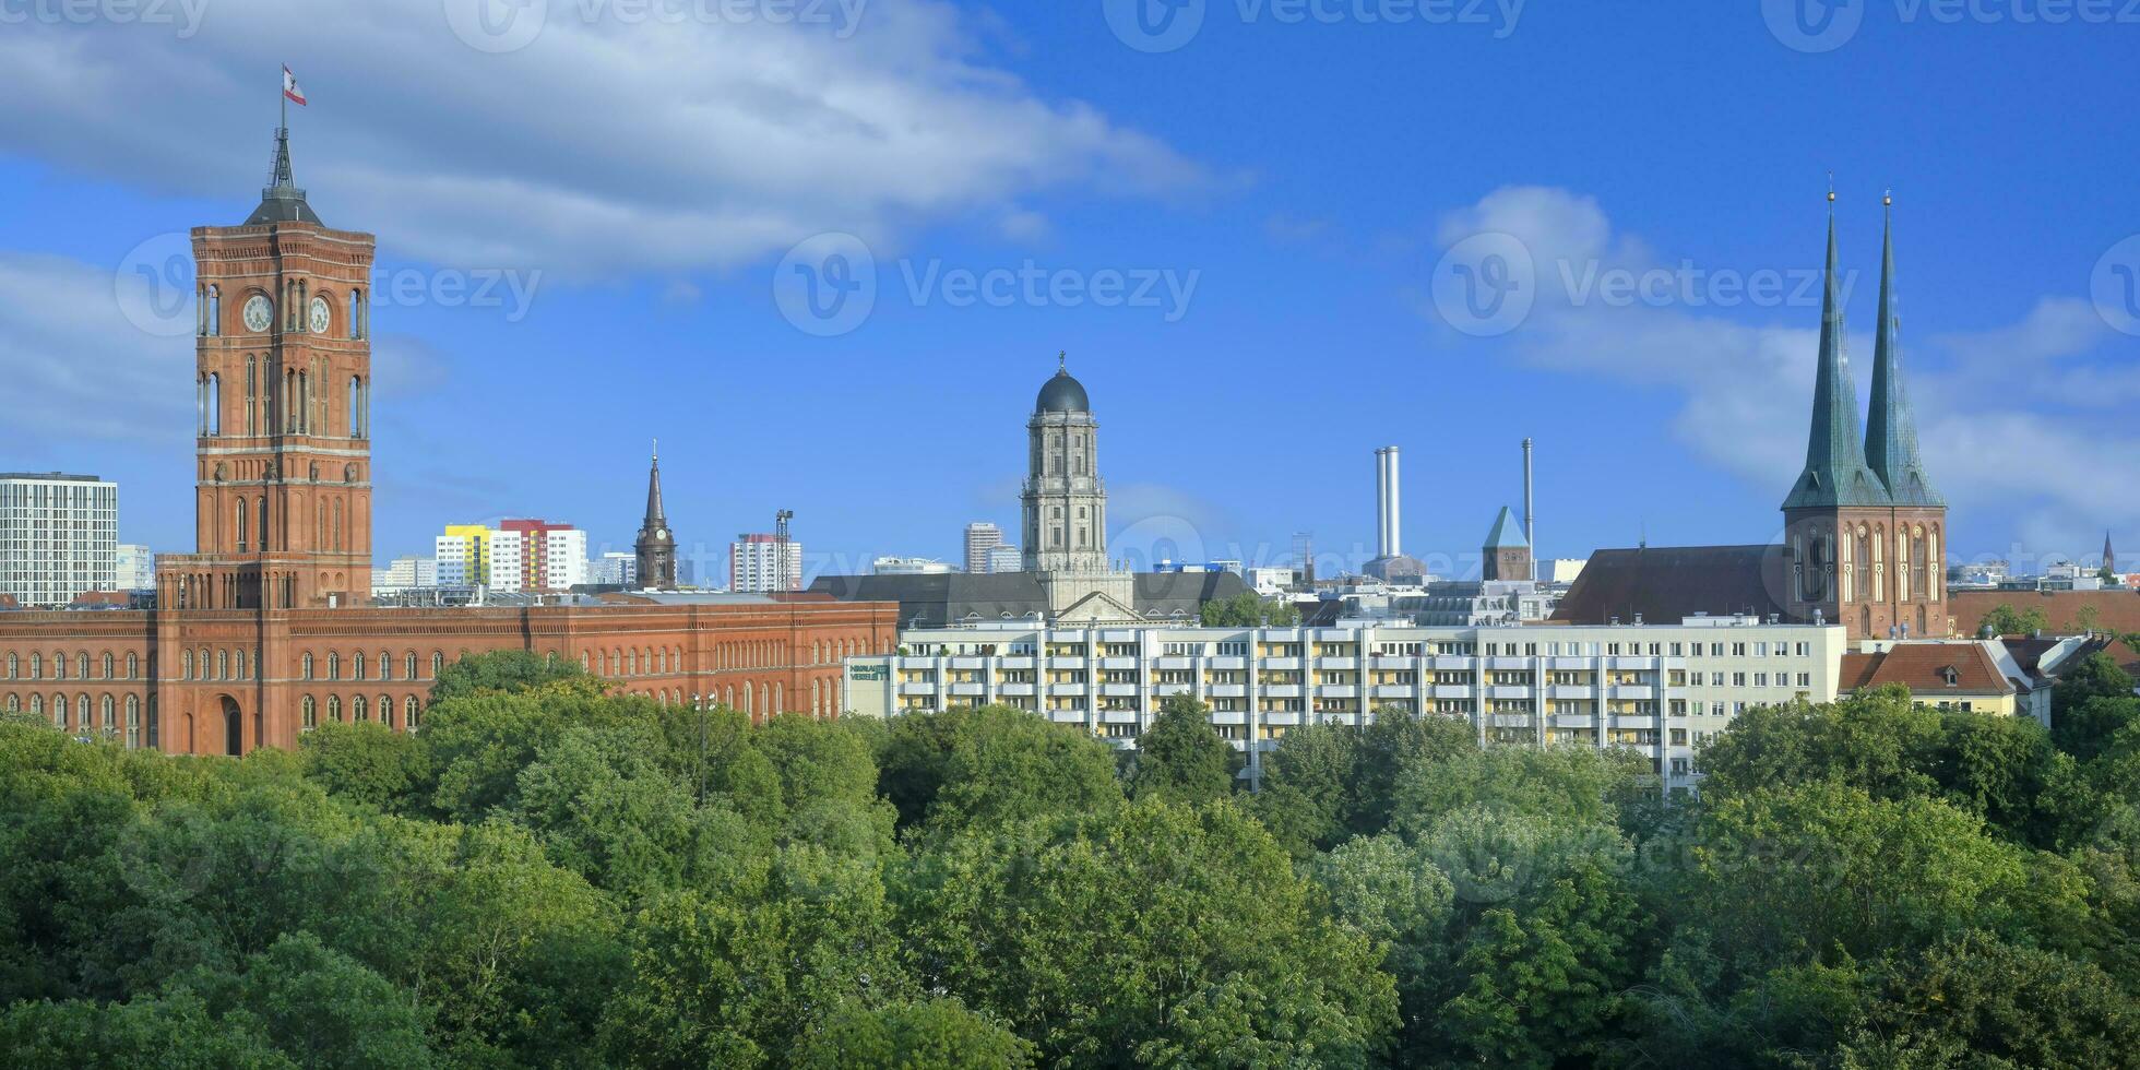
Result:
<svg viewBox="0 0 2140 1070"><path fill-rule="evenodd" d="M325 223L400 255L561 276L734 265L826 229L895 242L976 208L1019 218L1019 199L1057 188L1201 182L1164 143L987 66L937 0L858 4L852 36L693 15L734 4L655 4L687 15L670 21L554 0L505 54L449 28L473 4L514 9L218 0L175 43L30 19L0 36L0 148L242 212L287 58L310 96L291 107L297 182Z"/></svg>

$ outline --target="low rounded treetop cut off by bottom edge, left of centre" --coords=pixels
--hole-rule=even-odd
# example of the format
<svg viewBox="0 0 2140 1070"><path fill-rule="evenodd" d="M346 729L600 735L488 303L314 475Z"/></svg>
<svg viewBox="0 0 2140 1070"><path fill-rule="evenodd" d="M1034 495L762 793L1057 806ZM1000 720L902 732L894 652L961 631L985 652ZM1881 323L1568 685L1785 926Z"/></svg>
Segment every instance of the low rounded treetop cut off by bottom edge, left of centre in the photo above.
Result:
<svg viewBox="0 0 2140 1070"><path fill-rule="evenodd" d="M802 1038L796 1070L1023 1070L1034 1046L957 999L845 1006Z"/></svg>

